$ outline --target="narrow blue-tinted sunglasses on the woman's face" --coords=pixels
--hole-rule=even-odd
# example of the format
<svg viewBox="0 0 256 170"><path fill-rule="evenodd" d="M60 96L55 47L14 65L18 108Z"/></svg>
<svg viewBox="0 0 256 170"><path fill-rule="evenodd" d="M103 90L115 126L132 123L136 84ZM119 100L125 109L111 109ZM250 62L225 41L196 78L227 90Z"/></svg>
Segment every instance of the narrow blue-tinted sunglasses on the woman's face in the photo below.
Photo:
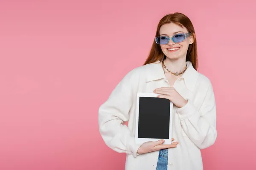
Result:
<svg viewBox="0 0 256 170"><path fill-rule="evenodd" d="M157 44L168 44L169 40L172 39L173 42L177 43L177 42L184 41L189 36L191 36L191 33L175 34L171 38L168 36L160 36L160 37L156 37L155 41Z"/></svg>

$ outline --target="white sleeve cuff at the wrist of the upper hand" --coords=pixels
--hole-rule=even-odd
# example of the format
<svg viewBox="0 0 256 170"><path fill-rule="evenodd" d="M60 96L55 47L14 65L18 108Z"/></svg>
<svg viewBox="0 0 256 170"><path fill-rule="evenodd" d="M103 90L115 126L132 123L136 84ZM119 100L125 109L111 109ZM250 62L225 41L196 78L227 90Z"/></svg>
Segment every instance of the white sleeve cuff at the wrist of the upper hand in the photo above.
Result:
<svg viewBox="0 0 256 170"><path fill-rule="evenodd" d="M182 108L177 108L176 112L178 113L180 120L183 120L194 115L197 112L197 109L193 105L192 101L188 99L186 105L184 105Z"/></svg>

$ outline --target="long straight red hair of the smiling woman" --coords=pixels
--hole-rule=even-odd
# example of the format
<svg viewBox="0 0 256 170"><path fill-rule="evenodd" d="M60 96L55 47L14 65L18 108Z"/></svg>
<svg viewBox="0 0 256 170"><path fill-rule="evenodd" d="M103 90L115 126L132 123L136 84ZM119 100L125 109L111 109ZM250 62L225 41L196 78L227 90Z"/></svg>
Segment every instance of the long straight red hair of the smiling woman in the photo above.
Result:
<svg viewBox="0 0 256 170"><path fill-rule="evenodd" d="M168 23L175 23L178 26L181 26L182 28L185 27L193 36L194 42L189 45L189 48L186 54L186 61L192 62L193 67L195 68L195 70L197 70L198 68L197 43L196 43L196 38L193 35L195 34L195 29L191 20L186 15L179 12L175 12L173 14L166 14L158 23L155 37L160 36L159 34L160 27ZM160 45L157 44L154 40L151 46L150 53L143 65L156 62L157 60L163 61L163 59L166 59L166 56L163 54L163 51Z"/></svg>

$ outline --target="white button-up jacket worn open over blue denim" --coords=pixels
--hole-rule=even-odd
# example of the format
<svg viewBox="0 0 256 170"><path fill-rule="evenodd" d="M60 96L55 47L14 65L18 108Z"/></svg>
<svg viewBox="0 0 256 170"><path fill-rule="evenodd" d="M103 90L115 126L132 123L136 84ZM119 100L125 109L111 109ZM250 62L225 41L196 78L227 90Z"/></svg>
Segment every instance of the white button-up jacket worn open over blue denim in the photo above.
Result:
<svg viewBox="0 0 256 170"><path fill-rule="evenodd" d="M217 137L216 108L212 84L191 62L176 80L174 88L188 100L183 108L173 108L172 137L179 142L169 149L168 170L203 170L201 151ZM135 144L136 95L169 87L160 61L133 69L119 82L99 108L99 132L105 143L119 153L127 153L125 170L155 170L159 151L138 154ZM128 121L128 126L123 122Z"/></svg>

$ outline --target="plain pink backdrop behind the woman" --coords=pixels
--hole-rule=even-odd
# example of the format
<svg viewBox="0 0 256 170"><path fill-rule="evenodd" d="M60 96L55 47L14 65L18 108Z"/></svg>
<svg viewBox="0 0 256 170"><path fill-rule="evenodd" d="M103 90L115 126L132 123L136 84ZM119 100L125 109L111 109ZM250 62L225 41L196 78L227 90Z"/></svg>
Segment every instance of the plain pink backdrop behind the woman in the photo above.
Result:
<svg viewBox="0 0 256 170"><path fill-rule="evenodd" d="M123 170L98 109L145 61L157 23L186 14L217 104L205 170L255 170L254 0L0 0L0 170Z"/></svg>

